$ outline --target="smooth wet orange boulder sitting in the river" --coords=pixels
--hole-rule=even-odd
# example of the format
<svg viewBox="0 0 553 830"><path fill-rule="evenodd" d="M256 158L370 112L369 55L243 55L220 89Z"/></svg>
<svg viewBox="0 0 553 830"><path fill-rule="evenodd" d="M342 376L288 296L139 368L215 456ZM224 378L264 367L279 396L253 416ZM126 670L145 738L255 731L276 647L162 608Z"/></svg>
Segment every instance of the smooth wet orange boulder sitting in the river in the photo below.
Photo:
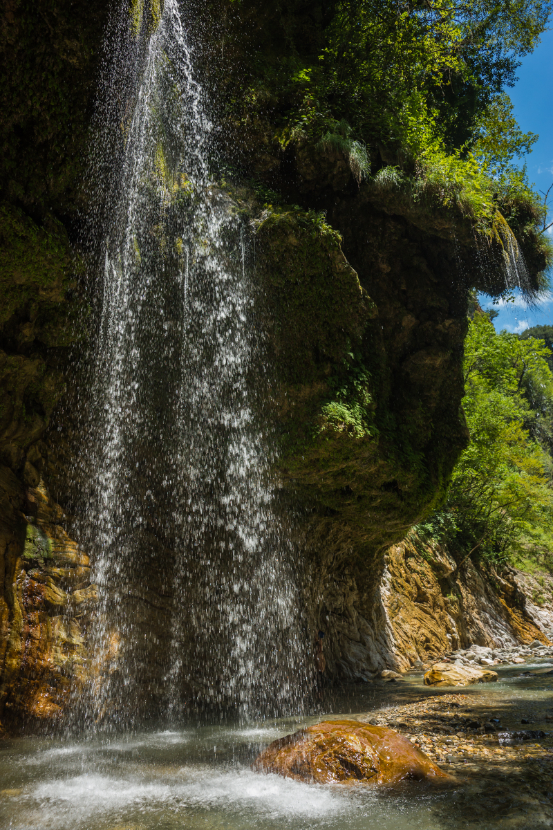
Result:
<svg viewBox="0 0 553 830"><path fill-rule="evenodd" d="M252 769L316 784L449 779L403 735L358 720L323 720L274 740Z"/></svg>

